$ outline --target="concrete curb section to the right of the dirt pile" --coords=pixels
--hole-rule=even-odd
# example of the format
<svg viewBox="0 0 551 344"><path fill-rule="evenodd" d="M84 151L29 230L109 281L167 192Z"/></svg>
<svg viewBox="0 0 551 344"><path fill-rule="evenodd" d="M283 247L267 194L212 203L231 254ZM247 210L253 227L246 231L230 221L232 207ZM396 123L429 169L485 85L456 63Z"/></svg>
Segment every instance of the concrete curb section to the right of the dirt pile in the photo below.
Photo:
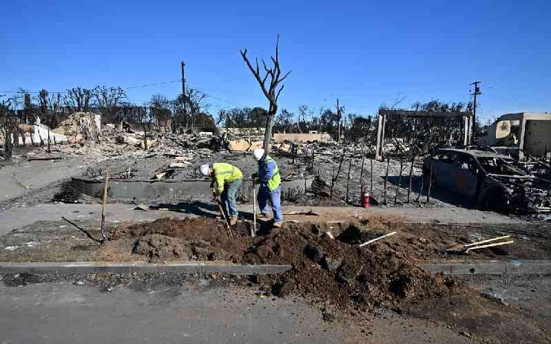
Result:
<svg viewBox="0 0 551 344"><path fill-rule="evenodd" d="M519 259L464 264L420 264L419 268L433 274L445 275L550 275L551 261Z"/></svg>

